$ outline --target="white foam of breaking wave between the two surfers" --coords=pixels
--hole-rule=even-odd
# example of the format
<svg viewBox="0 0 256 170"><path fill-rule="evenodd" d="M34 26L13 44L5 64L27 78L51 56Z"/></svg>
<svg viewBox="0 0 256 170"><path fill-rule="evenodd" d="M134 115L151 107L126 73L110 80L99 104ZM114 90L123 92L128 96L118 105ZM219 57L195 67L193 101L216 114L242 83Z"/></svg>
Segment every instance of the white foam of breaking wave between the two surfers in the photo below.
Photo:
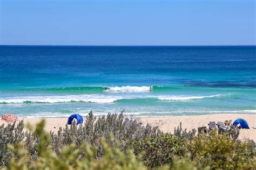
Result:
<svg viewBox="0 0 256 170"><path fill-rule="evenodd" d="M118 91L118 92L139 92L139 91L149 91L148 86L122 86L122 87L110 87L108 91Z"/></svg>

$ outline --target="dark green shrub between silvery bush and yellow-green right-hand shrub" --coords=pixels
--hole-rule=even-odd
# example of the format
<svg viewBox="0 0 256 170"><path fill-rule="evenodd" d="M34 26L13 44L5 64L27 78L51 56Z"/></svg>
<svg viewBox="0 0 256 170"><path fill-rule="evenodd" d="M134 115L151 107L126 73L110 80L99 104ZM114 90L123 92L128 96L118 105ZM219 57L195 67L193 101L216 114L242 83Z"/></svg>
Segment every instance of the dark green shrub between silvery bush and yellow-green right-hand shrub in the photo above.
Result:
<svg viewBox="0 0 256 170"><path fill-rule="evenodd" d="M153 168L165 164L172 165L173 155L184 154L184 141L173 134L160 133L156 137L147 137L134 141L132 148L136 154L143 153L142 161Z"/></svg>

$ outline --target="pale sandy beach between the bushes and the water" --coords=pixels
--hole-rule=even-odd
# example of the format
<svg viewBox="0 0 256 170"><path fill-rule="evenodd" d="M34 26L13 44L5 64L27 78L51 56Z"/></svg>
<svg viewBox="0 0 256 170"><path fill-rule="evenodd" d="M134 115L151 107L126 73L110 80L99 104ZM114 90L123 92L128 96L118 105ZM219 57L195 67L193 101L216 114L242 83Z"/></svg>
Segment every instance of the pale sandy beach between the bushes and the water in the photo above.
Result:
<svg viewBox="0 0 256 170"><path fill-rule="evenodd" d="M165 116L165 117L137 117L136 119L146 125L147 123L152 126L158 126L160 130L164 132L173 133L174 128L176 128L180 122L182 122L183 129L192 130L193 128L197 130L200 126L207 126L209 121L225 121L232 120L232 122L237 118L245 119L251 129L242 129L240 131L239 138L244 139L253 139L256 141L256 129L252 129L253 126L256 126L256 115L251 114L215 114L215 115L197 115L197 116ZM42 118L19 118L19 120L24 119L24 123L30 123L35 125ZM46 119L46 131L57 131L59 127L64 127L68 118L45 118ZM0 121L0 124L6 124L4 121Z"/></svg>

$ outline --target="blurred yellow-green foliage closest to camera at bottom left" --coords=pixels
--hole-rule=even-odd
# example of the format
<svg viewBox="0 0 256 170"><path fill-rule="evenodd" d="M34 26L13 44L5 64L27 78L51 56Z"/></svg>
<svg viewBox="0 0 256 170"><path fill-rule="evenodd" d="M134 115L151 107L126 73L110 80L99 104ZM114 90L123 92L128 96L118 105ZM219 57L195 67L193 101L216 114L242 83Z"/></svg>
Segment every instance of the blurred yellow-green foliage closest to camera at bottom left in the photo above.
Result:
<svg viewBox="0 0 256 170"><path fill-rule="evenodd" d="M34 132L41 138L37 145L38 158L29 162L29 152L24 149L23 143L18 143L17 147L9 144L12 151L9 169L146 169L132 150L127 150L124 154L120 151L118 143L111 147L104 138L101 139L104 153L98 160L95 159L96 148L91 148L86 143L79 145L77 149L75 144L64 146L59 150L59 154L56 154L52 152L51 145L48 145L50 136L43 130L44 123L39 123ZM110 140L112 141L111 137ZM81 158L83 152L86 156Z"/></svg>

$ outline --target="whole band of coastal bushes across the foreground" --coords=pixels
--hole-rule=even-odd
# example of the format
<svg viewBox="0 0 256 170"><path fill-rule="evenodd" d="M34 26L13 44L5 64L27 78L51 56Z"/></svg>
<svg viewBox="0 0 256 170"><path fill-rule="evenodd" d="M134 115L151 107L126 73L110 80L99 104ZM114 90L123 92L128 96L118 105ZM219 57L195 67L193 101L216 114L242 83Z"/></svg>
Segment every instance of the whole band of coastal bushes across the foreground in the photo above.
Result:
<svg viewBox="0 0 256 170"><path fill-rule="evenodd" d="M0 126L0 167L8 169L255 169L256 145L240 141L237 129L197 134L182 125L173 134L124 115L66 125L56 133L23 121ZM229 135L231 134L231 135Z"/></svg>

